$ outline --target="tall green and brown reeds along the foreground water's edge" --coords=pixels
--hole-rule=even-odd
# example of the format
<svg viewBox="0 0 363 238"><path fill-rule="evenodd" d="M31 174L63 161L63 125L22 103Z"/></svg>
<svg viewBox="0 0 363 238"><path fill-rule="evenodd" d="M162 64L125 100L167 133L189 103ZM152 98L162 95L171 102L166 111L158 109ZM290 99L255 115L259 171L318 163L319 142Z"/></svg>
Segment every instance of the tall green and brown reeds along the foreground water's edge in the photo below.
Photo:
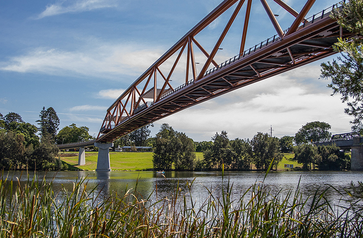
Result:
<svg viewBox="0 0 363 238"><path fill-rule="evenodd" d="M192 184L188 183L191 190ZM330 188L332 189L332 188ZM181 188L171 198L143 200L134 190L104 199L87 180L73 189L53 191L52 181L0 180L0 237L49 238L314 238L362 237L362 199L346 196L345 206L333 206L325 190L303 198L299 186L271 194L256 183L232 198L233 185L226 182L218 195L207 189L203 204ZM360 206L359 206L360 205Z"/></svg>

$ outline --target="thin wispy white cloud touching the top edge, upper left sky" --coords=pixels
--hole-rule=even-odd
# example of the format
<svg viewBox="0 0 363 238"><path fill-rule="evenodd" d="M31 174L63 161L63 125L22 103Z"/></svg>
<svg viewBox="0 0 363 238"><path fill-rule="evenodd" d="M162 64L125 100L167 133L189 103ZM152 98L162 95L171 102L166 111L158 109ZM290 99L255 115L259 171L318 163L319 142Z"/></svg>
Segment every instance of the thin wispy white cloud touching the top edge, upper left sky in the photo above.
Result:
<svg viewBox="0 0 363 238"><path fill-rule="evenodd" d="M67 1L59 1L46 6L46 10L38 15L36 19L50 17L54 15L69 13L69 12L84 12L99 8L115 7L114 0L77 0L73 4L67 5Z"/></svg>

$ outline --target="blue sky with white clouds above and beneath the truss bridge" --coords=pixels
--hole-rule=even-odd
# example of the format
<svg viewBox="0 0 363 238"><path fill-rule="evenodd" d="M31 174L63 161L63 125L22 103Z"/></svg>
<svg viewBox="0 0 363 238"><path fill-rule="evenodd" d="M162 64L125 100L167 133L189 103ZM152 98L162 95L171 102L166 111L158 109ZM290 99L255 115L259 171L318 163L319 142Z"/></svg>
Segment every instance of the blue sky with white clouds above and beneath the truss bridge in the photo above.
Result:
<svg viewBox="0 0 363 238"><path fill-rule="evenodd" d="M0 1L0 113L16 112L37 125L42 108L53 107L60 119L59 129L75 123L97 136L107 108L221 1ZM281 27L287 29L293 17L272 0L267 2L279 15ZM285 2L297 11L304 5L299 0ZM316 0L307 16L334 3L336 0ZM196 36L208 52L233 9ZM244 14L245 6L223 41L223 50L218 50L217 63L238 54ZM246 48L274 34L260 1L253 0ZM320 64L336 57L160 119L154 122L152 136L162 123L194 141L209 141L222 130L231 140L252 139L258 132L271 133L271 127L273 136L294 136L303 125L317 120L329 123L333 134L350 132L346 105L339 95L331 95L330 82L319 78ZM200 52L196 59L202 62Z"/></svg>

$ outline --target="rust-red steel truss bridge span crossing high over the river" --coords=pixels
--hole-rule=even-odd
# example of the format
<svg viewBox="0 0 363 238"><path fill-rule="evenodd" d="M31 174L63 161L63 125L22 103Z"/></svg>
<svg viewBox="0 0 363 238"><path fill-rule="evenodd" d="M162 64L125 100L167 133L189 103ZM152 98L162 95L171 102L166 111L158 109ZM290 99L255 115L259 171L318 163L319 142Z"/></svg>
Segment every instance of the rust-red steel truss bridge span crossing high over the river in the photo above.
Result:
<svg viewBox="0 0 363 238"><path fill-rule="evenodd" d="M112 142L137 128L185 108L330 56L336 53L332 46L337 42L337 37L355 37L329 17L334 8L342 7L341 3L306 18L315 0L307 0L300 12L282 0L274 1L294 16L294 21L288 29L282 30L267 1L260 0L277 34L247 49L245 42L248 39L252 0L224 0L220 3L138 77L107 109L96 141ZM241 13L245 16L242 37L236 46L240 50L231 59L217 63L216 53L243 4L246 4L246 11ZM207 52L195 37L230 8L234 9L232 16L213 49ZM205 55L205 62L200 62L203 67L199 71L194 49ZM182 57L186 57L186 64L182 66L185 83L172 86L172 78L177 74L175 69L180 67L181 62L185 62L181 60ZM173 62L170 64L172 66L167 71L161 70L167 68L167 60Z"/></svg>

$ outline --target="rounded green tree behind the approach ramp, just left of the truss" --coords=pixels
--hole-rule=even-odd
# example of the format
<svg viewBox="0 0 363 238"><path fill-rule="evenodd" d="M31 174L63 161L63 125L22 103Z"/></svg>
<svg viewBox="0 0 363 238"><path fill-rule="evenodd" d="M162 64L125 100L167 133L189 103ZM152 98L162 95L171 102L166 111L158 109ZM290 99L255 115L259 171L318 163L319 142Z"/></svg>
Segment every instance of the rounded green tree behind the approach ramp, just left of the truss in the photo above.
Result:
<svg viewBox="0 0 363 238"><path fill-rule="evenodd" d="M65 126L59 131L56 137L57 143L74 143L90 140L92 139L92 136L88 134L88 130L88 127L77 127L75 123Z"/></svg>

